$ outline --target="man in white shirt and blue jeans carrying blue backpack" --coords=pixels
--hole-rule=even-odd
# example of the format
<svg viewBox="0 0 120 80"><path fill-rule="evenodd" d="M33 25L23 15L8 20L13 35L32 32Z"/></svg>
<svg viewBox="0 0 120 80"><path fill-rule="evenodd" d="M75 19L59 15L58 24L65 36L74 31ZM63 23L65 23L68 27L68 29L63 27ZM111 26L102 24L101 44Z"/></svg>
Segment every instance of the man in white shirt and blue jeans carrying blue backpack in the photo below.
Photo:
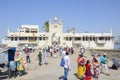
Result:
<svg viewBox="0 0 120 80"><path fill-rule="evenodd" d="M68 77L68 71L71 70L71 67L70 67L70 58L68 56L68 52L66 52L66 55L64 56L64 61L65 61L65 64L64 64L64 80L68 80L67 77Z"/></svg>

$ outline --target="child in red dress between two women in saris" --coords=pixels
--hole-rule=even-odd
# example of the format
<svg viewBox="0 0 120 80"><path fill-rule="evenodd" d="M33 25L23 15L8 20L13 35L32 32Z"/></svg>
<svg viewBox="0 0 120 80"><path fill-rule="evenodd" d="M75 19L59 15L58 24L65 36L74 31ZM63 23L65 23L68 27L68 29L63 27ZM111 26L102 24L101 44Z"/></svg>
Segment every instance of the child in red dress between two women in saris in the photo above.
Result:
<svg viewBox="0 0 120 80"><path fill-rule="evenodd" d="M85 80L92 80L91 65L89 60L87 60L85 67L86 67Z"/></svg>

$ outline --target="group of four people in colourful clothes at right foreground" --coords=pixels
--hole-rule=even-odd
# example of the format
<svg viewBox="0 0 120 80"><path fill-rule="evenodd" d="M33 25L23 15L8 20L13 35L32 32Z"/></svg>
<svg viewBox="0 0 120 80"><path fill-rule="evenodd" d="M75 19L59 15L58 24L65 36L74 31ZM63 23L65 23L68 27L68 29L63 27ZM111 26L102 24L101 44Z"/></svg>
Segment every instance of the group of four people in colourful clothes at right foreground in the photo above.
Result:
<svg viewBox="0 0 120 80"><path fill-rule="evenodd" d="M108 66L107 66L107 54L106 53L103 53L103 55L100 57L98 57L97 53L95 53L90 62L89 59L86 59L84 57L85 53L83 53L83 51L80 51L80 52L81 53L79 54L79 57L77 58L77 63L78 63L77 77L80 80L92 80L92 77L98 80L100 73L104 73L108 76L110 75Z"/></svg>

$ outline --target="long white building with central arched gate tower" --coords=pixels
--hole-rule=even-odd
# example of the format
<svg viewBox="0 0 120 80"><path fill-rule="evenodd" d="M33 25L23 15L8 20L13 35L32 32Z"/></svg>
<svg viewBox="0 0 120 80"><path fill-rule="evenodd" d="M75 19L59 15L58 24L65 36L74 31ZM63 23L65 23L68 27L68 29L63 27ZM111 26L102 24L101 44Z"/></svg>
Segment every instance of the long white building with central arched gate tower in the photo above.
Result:
<svg viewBox="0 0 120 80"><path fill-rule="evenodd" d="M40 32L38 25L22 25L18 32L8 29L6 39L2 44L9 47L31 44L37 47L51 46L53 43L61 46L85 46L90 49L114 49L114 37L112 30L108 33L75 33L74 29L63 33L63 22L57 17L54 21L48 21L48 31Z"/></svg>

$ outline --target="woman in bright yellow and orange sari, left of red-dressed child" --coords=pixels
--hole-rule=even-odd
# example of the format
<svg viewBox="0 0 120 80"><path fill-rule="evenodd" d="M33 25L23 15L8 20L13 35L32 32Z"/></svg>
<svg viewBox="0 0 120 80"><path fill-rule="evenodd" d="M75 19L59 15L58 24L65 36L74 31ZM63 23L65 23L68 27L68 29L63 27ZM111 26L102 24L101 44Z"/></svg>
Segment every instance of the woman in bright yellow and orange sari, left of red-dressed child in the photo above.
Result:
<svg viewBox="0 0 120 80"><path fill-rule="evenodd" d="M83 79L85 74L85 59L82 54L80 54L79 57L77 58L77 63L78 63L77 77L79 79Z"/></svg>

